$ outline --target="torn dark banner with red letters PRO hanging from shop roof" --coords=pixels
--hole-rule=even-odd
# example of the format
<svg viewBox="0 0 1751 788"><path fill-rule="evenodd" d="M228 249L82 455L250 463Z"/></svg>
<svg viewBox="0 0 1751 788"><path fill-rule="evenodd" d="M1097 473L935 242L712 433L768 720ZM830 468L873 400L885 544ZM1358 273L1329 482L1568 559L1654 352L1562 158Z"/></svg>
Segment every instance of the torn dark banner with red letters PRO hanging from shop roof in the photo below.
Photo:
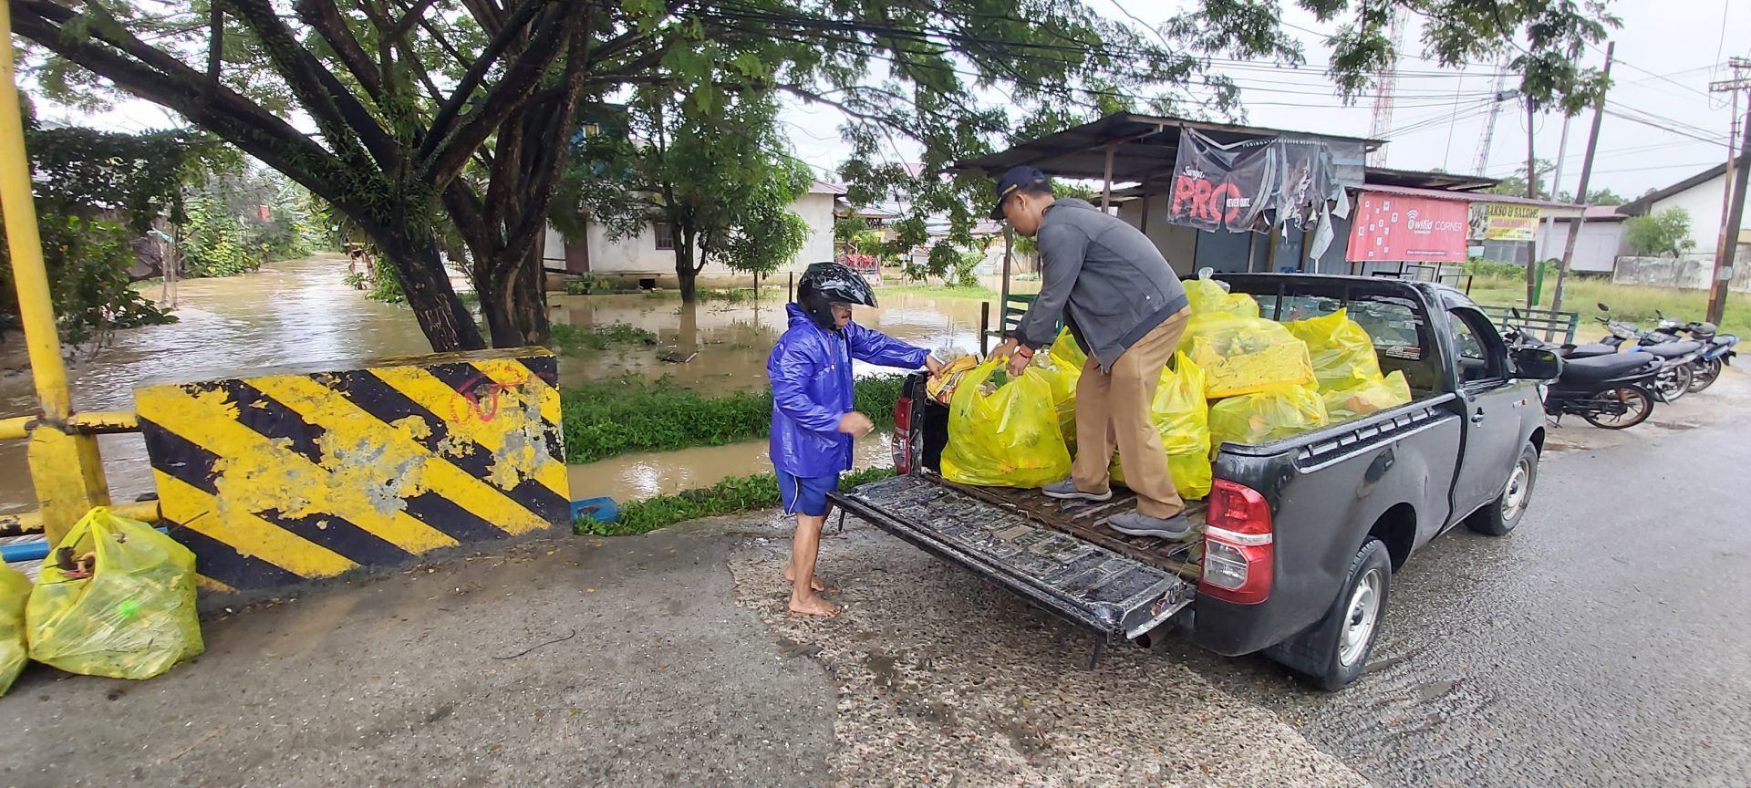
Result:
<svg viewBox="0 0 1751 788"><path fill-rule="evenodd" d="M1329 219L1329 201L1347 215L1343 189L1362 184L1362 156L1357 142L1283 135L1222 145L1182 128L1168 221L1206 233L1245 233Z"/></svg>

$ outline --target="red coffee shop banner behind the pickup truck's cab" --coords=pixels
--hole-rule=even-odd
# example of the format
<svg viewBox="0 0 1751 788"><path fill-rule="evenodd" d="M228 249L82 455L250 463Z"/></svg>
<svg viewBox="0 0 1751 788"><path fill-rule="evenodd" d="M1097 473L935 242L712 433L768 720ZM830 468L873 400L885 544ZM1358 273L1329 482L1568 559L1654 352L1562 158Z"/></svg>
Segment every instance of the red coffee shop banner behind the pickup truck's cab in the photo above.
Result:
<svg viewBox="0 0 1751 788"><path fill-rule="evenodd" d="M1466 263L1466 203L1362 193L1350 263Z"/></svg>

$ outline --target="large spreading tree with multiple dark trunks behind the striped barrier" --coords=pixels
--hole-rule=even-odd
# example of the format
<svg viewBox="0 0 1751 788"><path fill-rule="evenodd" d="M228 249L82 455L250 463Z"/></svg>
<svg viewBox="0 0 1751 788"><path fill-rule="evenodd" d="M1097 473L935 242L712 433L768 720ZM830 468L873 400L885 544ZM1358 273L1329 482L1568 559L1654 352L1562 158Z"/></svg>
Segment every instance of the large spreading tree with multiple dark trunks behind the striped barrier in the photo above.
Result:
<svg viewBox="0 0 1751 788"><path fill-rule="evenodd" d="M1297 4L1348 18L1329 40L1347 98L1392 61L1396 7L1424 18L1424 49L1445 65L1513 47L1522 93L1567 112L1602 88L1576 63L1616 25L1595 2ZM1234 114L1210 56L1303 60L1269 5L1198 4L1143 32L1082 0L11 2L37 47L26 65L56 98L165 105L352 217L440 350L482 345L440 249L466 252L494 343L546 336L539 240L585 98L667 84L839 107L853 201L905 193L965 245L989 184L935 173L1117 109ZM891 161L897 140L923 149L921 170Z"/></svg>

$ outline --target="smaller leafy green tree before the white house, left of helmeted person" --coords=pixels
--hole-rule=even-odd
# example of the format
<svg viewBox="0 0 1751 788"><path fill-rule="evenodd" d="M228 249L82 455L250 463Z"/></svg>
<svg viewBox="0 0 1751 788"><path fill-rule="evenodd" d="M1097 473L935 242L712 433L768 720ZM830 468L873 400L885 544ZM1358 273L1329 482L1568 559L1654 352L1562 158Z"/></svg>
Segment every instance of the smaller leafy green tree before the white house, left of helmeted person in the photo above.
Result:
<svg viewBox="0 0 1751 788"><path fill-rule="evenodd" d="M625 116L625 133L578 145L553 201L564 235L580 236L585 215L609 238L665 224L683 301L695 299L695 278L711 263L772 273L802 249L809 228L790 205L814 177L784 152L770 91L641 88Z"/></svg>

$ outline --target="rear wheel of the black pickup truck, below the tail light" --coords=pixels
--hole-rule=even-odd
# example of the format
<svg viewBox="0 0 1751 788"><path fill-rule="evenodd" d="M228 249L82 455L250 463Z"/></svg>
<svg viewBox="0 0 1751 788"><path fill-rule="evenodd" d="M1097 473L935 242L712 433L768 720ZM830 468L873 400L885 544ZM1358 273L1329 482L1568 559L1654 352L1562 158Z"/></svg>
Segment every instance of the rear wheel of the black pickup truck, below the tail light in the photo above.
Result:
<svg viewBox="0 0 1751 788"><path fill-rule="evenodd" d="M1368 539L1350 560L1350 576L1319 623L1269 646L1264 655L1326 692L1341 690L1362 674L1387 615L1392 555Z"/></svg>

